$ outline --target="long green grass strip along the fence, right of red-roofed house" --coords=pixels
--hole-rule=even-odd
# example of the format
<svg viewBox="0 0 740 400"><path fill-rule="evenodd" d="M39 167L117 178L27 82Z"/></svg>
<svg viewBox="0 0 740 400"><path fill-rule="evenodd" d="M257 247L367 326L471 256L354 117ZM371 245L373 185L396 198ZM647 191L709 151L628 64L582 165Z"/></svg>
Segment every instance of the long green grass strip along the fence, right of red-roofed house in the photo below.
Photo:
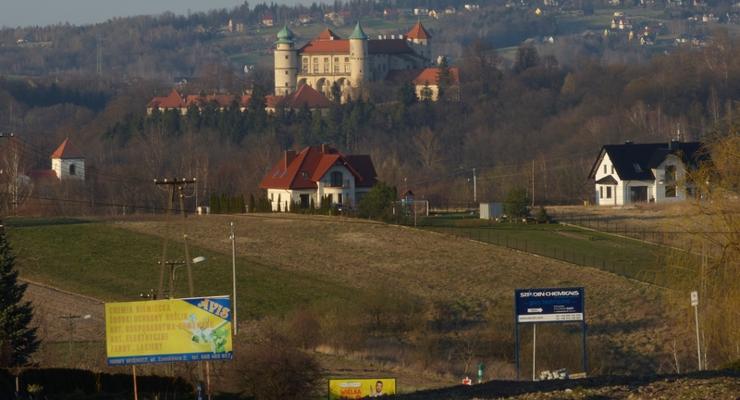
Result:
<svg viewBox="0 0 740 400"><path fill-rule="evenodd" d="M560 224L490 223L463 215L433 216L420 225L578 265L587 265L645 282L666 285L686 270L656 269L670 253L665 247ZM668 276L667 274L671 274Z"/></svg>

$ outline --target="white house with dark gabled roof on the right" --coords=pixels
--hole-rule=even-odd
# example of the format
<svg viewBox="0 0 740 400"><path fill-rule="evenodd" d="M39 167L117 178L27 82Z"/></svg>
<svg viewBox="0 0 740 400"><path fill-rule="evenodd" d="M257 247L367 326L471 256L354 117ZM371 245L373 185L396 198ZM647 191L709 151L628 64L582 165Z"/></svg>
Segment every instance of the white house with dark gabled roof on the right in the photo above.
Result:
<svg viewBox="0 0 740 400"><path fill-rule="evenodd" d="M594 180L595 204L624 206L691 198L693 186L687 172L706 159L699 142L605 145L588 175Z"/></svg>

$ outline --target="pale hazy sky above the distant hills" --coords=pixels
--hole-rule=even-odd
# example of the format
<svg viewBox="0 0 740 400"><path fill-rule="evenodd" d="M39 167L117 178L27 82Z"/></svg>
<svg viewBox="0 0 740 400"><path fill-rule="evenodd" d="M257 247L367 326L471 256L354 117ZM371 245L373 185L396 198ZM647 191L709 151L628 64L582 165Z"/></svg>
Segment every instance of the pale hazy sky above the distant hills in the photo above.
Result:
<svg viewBox="0 0 740 400"><path fill-rule="evenodd" d="M281 0L294 4L300 0ZM49 25L57 22L90 24L112 17L160 14L172 11L185 14L214 8L232 8L244 0L0 0L0 26ZM249 3L256 4L253 0ZM261 2L261 0L259 1Z"/></svg>

